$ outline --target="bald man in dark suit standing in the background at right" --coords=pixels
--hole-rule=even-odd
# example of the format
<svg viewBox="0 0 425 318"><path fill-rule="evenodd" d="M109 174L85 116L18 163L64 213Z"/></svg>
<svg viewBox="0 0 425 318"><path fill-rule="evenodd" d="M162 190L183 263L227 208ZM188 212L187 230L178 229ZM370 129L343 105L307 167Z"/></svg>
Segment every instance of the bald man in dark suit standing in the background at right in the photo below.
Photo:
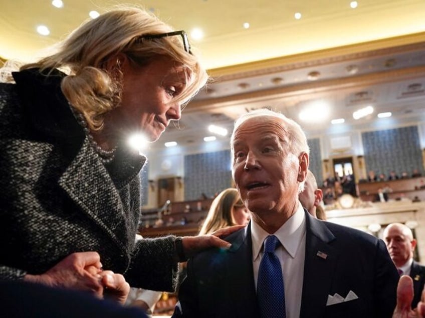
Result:
<svg viewBox="0 0 425 318"><path fill-rule="evenodd" d="M387 225L383 232L383 238L400 275L409 275L413 279L414 297L411 307L415 308L420 300L425 282L425 266L413 259L416 239L413 238L411 229L401 223Z"/></svg>

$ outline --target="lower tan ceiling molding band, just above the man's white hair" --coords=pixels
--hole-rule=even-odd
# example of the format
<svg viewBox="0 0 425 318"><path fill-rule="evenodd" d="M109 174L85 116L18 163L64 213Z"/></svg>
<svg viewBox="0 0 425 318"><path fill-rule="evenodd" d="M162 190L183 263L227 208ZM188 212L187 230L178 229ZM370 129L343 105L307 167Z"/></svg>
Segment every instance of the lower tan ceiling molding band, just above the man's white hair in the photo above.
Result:
<svg viewBox="0 0 425 318"><path fill-rule="evenodd" d="M286 85L271 89L245 92L217 98L192 100L184 109L186 113L199 110L211 110L223 106L276 100L300 94L335 91L339 89L378 85L396 80L408 80L425 77L425 65L402 69L386 70L368 74L354 75L344 78L324 79L300 84Z"/></svg>

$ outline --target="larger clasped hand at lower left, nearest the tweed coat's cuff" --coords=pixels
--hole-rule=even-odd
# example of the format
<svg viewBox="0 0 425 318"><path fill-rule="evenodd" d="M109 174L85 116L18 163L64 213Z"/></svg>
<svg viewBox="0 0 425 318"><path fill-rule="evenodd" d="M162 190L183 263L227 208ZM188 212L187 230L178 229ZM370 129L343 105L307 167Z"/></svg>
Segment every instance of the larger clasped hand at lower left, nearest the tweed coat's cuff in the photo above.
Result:
<svg viewBox="0 0 425 318"><path fill-rule="evenodd" d="M91 291L98 297L103 295L99 272L102 264L97 252L72 253L44 274L27 274L24 280L52 287L64 287Z"/></svg>

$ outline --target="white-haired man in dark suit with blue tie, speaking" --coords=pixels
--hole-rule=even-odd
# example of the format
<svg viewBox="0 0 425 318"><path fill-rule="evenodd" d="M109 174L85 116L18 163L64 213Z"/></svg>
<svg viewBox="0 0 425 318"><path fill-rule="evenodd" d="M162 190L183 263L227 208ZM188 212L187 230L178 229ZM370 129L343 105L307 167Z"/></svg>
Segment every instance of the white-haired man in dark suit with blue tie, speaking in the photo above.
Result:
<svg viewBox="0 0 425 318"><path fill-rule="evenodd" d="M233 178L251 222L227 237L229 250L209 249L188 261L174 316L391 316L398 274L384 242L318 220L299 203L309 164L301 127L280 113L256 110L236 121L231 146ZM277 239L272 251L263 244L269 238ZM273 257L279 275L265 277L263 260ZM284 305L269 305L274 312L265 314L260 299L268 300L263 285L269 278L284 289Z"/></svg>

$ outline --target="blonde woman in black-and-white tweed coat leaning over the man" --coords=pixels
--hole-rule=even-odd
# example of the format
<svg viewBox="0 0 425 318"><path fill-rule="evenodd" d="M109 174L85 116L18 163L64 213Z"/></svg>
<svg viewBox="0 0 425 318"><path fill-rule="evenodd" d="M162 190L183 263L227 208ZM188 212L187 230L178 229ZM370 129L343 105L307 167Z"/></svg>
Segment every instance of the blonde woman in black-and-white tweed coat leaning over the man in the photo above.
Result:
<svg viewBox="0 0 425 318"><path fill-rule="evenodd" d="M230 246L217 236L134 240L146 158L127 139L158 139L207 80L184 31L123 7L81 25L55 54L11 65L0 70L0 279L122 301L126 285L99 280L104 269L173 291L178 261Z"/></svg>

